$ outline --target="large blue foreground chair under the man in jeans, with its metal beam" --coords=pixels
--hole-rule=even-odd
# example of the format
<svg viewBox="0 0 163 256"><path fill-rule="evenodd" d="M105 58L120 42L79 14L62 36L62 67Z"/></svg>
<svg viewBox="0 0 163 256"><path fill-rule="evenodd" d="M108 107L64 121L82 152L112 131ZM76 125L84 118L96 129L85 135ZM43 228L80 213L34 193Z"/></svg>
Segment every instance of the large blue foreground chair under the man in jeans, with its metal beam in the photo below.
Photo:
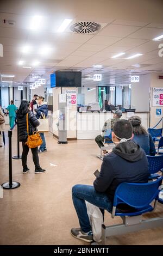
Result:
<svg viewBox="0 0 163 256"><path fill-rule="evenodd" d="M102 225L102 245L106 237L122 235L128 232L151 229L163 226L163 218L149 218L142 220L142 214L153 211L158 202L159 186L162 178L149 183L121 183L115 192L112 208L112 218L120 216L123 224L106 227ZM154 204L151 203L154 200ZM120 210L120 205L127 204L130 210Z"/></svg>

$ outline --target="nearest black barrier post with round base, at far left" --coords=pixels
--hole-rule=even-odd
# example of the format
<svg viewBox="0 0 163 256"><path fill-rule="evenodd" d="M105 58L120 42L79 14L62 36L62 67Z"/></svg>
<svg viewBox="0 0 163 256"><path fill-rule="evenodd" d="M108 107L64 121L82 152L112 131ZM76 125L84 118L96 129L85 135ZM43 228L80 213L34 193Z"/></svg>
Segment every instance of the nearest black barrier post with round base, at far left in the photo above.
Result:
<svg viewBox="0 0 163 256"><path fill-rule="evenodd" d="M12 181L12 131L8 131L9 137L9 182L2 184L2 187L7 190L12 190L13 188L20 187L20 183L17 181Z"/></svg>

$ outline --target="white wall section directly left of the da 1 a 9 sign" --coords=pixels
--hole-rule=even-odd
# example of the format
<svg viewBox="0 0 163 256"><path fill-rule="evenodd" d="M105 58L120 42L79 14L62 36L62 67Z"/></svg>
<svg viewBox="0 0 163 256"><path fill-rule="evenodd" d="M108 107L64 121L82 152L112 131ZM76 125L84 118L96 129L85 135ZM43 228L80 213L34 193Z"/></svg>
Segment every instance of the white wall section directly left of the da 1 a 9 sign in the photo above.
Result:
<svg viewBox="0 0 163 256"><path fill-rule="evenodd" d="M136 112L148 112L151 74L140 76L139 81L131 83L131 106L136 108Z"/></svg>

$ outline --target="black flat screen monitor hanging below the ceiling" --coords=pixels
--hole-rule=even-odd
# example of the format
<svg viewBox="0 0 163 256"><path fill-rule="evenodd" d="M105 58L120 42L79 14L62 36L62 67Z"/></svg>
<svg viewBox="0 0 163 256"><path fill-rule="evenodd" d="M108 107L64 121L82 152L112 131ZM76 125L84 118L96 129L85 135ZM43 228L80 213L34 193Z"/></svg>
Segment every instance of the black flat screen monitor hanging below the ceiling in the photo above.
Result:
<svg viewBox="0 0 163 256"><path fill-rule="evenodd" d="M82 72L56 71L55 86L56 87L81 87Z"/></svg>

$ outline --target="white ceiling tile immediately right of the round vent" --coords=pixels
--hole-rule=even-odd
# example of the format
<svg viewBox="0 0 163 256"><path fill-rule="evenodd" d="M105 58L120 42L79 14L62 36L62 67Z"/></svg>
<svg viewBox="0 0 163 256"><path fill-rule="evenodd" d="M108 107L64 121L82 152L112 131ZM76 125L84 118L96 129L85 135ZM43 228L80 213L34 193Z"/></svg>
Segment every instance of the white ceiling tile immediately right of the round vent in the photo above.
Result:
<svg viewBox="0 0 163 256"><path fill-rule="evenodd" d="M105 27L98 35L118 36L124 37L135 32L140 27L135 26L122 26L122 25L109 25Z"/></svg>

